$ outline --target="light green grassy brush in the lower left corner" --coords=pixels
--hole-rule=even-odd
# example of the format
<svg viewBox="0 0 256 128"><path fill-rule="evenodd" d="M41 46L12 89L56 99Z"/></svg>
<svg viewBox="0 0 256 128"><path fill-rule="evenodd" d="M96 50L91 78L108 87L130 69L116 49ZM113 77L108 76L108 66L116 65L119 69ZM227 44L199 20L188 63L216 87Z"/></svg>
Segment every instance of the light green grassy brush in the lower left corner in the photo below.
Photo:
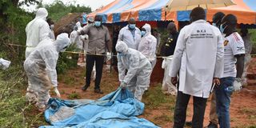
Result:
<svg viewBox="0 0 256 128"><path fill-rule="evenodd" d="M12 65L0 70L0 126L37 127L46 124L34 106L25 100L26 77L23 67ZM39 119L40 118L40 119Z"/></svg>

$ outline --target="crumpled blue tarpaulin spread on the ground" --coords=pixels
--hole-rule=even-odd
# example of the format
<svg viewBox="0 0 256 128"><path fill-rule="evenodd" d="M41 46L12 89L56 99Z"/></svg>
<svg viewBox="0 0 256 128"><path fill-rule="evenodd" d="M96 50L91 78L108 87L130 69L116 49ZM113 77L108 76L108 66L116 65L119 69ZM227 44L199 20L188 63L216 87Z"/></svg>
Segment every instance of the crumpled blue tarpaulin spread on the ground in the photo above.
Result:
<svg viewBox="0 0 256 128"><path fill-rule="evenodd" d="M158 128L144 118L144 104L128 90L118 90L98 100L61 100L50 98L45 111L46 122L40 128Z"/></svg>

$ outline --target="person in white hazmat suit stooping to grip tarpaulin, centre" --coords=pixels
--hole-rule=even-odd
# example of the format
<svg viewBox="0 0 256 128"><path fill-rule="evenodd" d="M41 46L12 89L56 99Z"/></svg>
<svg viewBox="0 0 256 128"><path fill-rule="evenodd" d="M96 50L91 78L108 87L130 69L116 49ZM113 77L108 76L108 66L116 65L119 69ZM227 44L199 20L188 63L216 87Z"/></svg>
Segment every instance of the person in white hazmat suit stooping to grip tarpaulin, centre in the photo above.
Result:
<svg viewBox="0 0 256 128"><path fill-rule="evenodd" d="M144 91L150 87L150 61L138 50L128 48L125 42L119 41L115 49L118 52L120 86L127 87L134 93L134 98L141 101Z"/></svg>

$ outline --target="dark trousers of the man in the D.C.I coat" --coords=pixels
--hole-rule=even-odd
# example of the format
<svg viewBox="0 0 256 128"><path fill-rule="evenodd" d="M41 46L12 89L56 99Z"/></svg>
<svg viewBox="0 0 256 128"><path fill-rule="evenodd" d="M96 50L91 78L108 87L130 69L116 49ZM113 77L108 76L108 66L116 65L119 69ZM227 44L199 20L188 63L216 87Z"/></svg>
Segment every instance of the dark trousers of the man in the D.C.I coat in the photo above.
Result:
<svg viewBox="0 0 256 128"><path fill-rule="evenodd" d="M176 106L174 110L174 128L183 128L186 122L186 108L190 101L189 94L183 94L178 91ZM192 128L202 128L203 118L206 110L207 98L193 97L194 114L192 119Z"/></svg>

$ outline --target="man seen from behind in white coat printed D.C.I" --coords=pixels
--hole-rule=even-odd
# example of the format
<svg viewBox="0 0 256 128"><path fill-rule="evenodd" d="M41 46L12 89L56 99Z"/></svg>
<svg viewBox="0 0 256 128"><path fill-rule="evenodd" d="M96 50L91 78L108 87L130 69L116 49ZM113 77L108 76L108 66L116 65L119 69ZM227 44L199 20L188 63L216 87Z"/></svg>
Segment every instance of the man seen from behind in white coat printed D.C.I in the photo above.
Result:
<svg viewBox="0 0 256 128"><path fill-rule="evenodd" d="M220 84L224 56L222 34L205 18L205 10L194 8L190 14L192 23L185 26L178 36L170 70L171 82L174 85L179 82L174 128L184 127L190 96L194 98L192 127L202 128L212 83Z"/></svg>

